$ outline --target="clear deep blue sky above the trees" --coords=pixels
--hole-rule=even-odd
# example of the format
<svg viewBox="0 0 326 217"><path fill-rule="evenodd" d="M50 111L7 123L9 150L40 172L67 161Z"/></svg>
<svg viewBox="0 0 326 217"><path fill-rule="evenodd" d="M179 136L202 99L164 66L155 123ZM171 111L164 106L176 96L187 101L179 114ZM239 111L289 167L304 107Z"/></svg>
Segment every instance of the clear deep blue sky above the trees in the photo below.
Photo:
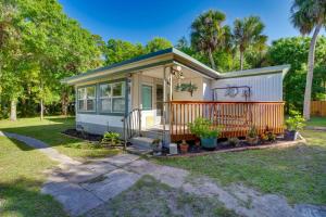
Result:
<svg viewBox="0 0 326 217"><path fill-rule="evenodd" d="M268 41L298 36L290 23L291 0L59 0L68 16L106 41L118 38L146 43L155 36L173 43L189 36L200 13L215 9L226 13L226 24L237 17L259 15Z"/></svg>

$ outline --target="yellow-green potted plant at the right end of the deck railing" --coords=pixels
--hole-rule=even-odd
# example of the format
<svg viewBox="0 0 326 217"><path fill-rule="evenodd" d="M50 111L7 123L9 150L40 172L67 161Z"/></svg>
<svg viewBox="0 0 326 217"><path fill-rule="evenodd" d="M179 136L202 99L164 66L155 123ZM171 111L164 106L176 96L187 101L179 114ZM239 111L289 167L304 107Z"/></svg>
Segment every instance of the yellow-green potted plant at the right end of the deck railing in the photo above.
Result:
<svg viewBox="0 0 326 217"><path fill-rule="evenodd" d="M287 130L285 131L285 139L294 141L298 139L299 130L305 126L305 119L298 112L291 111L290 114L292 116L286 120Z"/></svg>

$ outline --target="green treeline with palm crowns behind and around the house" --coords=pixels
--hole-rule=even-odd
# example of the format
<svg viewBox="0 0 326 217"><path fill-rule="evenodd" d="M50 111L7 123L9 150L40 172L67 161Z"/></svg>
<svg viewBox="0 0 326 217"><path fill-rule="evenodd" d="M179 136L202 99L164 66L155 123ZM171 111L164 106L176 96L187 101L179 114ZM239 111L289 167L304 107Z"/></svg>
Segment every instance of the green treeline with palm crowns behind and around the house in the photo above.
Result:
<svg viewBox="0 0 326 217"><path fill-rule="evenodd" d="M316 10L302 8L304 2L310 7L316 3L312 8ZM325 18L317 18L315 14L324 10L315 8L321 2L294 1L292 22L302 33L312 31L317 21ZM287 111L301 110L311 38L281 38L267 46L260 17L236 20L233 26L226 25L226 20L227 15L217 10L200 14L190 26L189 37L181 37L175 47L221 73L291 64L284 81L284 95ZM2 0L0 118L7 118L10 114L11 119L15 119L16 116L37 113L42 116L43 113L73 112L74 90L61 85L62 78L171 47L172 42L162 37L154 37L145 44L113 38L103 41L100 36L68 17L57 0ZM326 38L318 37L313 99L326 98L325 59Z"/></svg>

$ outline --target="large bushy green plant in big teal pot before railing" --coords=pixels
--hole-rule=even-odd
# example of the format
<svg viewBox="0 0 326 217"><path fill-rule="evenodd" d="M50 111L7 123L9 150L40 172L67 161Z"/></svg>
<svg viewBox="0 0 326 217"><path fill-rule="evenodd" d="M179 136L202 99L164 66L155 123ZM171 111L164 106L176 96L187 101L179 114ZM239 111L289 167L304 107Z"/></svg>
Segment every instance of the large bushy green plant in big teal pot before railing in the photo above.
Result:
<svg viewBox="0 0 326 217"><path fill-rule="evenodd" d="M221 127L214 127L212 122L206 118L196 118L193 123L189 123L190 132L200 138L201 146L204 149L215 149L217 138L221 135Z"/></svg>

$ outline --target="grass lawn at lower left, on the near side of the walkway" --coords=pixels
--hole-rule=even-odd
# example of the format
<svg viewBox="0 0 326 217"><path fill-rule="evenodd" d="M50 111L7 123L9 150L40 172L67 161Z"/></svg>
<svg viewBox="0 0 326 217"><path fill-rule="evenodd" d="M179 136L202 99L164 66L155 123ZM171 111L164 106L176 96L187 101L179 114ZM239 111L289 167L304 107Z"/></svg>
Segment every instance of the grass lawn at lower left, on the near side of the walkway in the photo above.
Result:
<svg viewBox="0 0 326 217"><path fill-rule="evenodd" d="M18 159L18 161L17 161ZM42 171L55 164L25 144L0 137L0 216L66 216L49 195L40 194Z"/></svg>

